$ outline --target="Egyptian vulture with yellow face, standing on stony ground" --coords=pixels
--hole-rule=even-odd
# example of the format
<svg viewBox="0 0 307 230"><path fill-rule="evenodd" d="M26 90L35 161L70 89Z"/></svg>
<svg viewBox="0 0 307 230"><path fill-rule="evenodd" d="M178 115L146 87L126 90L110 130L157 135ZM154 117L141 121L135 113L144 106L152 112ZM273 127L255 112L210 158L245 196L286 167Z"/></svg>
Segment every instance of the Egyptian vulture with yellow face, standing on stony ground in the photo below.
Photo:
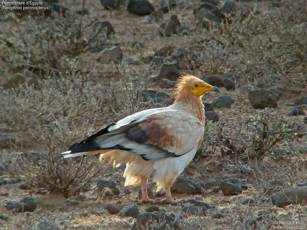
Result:
<svg viewBox="0 0 307 230"><path fill-rule="evenodd" d="M147 180L165 189L165 203L173 203L170 186L193 159L205 130L204 105L201 97L208 91L219 92L191 75L181 76L174 88L172 105L134 113L104 126L63 152L64 158L100 153L100 162L110 159L113 166L126 164L125 186L141 183L142 200L148 198Z"/></svg>

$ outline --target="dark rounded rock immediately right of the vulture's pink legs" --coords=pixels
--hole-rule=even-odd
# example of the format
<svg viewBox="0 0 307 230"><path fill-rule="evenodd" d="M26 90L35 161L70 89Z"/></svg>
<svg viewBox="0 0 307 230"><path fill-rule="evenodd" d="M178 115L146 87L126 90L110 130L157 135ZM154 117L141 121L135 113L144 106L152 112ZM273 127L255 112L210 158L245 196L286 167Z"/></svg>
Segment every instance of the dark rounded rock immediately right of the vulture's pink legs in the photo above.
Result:
<svg viewBox="0 0 307 230"><path fill-rule="evenodd" d="M202 189L204 189L204 183L200 179L185 175L179 175L171 186L171 191L179 194L201 194Z"/></svg>

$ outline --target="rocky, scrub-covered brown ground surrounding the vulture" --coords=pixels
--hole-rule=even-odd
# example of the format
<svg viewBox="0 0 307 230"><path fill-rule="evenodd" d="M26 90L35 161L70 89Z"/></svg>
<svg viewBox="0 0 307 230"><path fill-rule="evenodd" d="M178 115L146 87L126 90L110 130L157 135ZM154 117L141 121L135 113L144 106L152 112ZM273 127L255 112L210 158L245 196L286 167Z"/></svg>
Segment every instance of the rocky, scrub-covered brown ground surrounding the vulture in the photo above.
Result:
<svg viewBox="0 0 307 230"><path fill-rule="evenodd" d="M0 14L1 229L306 228L306 1L52 2ZM172 103L181 74L220 95L203 97L206 135L177 205L136 205L124 165L61 158Z"/></svg>

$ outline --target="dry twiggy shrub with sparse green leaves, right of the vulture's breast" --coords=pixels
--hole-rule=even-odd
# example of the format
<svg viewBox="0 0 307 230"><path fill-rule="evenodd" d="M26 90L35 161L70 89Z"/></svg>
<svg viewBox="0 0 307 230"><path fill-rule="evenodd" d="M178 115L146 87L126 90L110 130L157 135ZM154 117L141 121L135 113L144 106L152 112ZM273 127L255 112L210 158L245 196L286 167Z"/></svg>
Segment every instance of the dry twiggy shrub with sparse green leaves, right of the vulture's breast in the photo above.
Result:
<svg viewBox="0 0 307 230"><path fill-rule="evenodd" d="M211 148L221 148L222 155L233 155L236 160L262 159L280 146L307 135L306 125L298 121L288 124L288 121L270 109L264 109L253 118L239 121L239 125L225 133L223 123L220 123L218 134L210 136L207 141Z"/></svg>

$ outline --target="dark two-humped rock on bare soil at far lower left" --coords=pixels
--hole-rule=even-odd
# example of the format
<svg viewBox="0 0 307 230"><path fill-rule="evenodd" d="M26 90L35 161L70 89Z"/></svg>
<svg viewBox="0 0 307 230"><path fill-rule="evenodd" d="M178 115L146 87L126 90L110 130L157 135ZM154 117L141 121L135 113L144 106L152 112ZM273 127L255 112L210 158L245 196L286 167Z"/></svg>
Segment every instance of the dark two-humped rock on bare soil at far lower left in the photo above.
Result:
<svg viewBox="0 0 307 230"><path fill-rule="evenodd" d="M33 197L24 197L19 202L9 201L4 206L8 210L15 210L16 212L33 212L37 208L37 203Z"/></svg>

